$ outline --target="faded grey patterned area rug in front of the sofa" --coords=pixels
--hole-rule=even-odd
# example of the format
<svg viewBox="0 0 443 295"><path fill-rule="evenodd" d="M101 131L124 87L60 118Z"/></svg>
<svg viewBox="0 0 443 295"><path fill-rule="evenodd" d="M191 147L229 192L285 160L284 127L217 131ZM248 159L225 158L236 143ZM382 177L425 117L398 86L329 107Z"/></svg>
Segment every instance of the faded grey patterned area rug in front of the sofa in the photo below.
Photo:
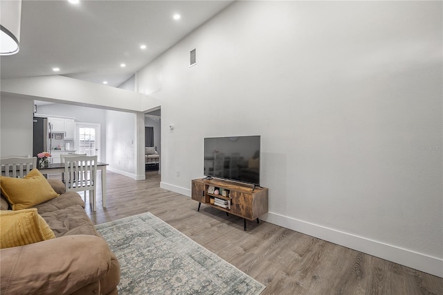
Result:
<svg viewBox="0 0 443 295"><path fill-rule="evenodd" d="M260 294L265 286L151 213L98 224L124 294Z"/></svg>

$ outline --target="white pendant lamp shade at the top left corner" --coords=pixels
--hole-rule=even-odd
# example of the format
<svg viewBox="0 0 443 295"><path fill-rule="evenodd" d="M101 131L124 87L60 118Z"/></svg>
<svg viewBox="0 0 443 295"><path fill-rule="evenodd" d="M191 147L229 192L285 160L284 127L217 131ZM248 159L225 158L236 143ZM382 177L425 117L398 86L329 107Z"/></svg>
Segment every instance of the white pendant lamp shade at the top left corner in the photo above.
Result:
<svg viewBox="0 0 443 295"><path fill-rule="evenodd" d="M0 1L0 55L19 52L21 0Z"/></svg>

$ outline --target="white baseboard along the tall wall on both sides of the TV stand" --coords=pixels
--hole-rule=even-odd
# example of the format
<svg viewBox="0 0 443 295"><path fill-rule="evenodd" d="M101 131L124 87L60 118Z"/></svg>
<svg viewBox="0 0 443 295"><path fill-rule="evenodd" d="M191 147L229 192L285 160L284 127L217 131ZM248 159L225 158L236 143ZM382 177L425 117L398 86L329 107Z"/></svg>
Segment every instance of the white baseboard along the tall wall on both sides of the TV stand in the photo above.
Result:
<svg viewBox="0 0 443 295"><path fill-rule="evenodd" d="M160 187L181 195L191 196L191 190L188 188L164 182L160 183ZM266 213L266 215L260 217L260 220L443 278L443 259L440 258L370 240L359 235L329 229L325 226L297 220L277 213Z"/></svg>

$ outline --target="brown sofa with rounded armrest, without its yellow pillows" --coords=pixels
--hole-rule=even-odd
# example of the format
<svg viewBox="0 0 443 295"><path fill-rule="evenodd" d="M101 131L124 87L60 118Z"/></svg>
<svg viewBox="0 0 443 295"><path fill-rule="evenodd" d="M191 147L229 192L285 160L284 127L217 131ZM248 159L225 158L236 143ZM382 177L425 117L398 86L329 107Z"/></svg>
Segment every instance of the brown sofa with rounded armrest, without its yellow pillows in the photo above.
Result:
<svg viewBox="0 0 443 295"><path fill-rule="evenodd" d="M84 211L84 202L64 184L48 179L60 196L35 206L55 238L0 250L0 293L118 294L120 265ZM1 210L8 202L1 196Z"/></svg>

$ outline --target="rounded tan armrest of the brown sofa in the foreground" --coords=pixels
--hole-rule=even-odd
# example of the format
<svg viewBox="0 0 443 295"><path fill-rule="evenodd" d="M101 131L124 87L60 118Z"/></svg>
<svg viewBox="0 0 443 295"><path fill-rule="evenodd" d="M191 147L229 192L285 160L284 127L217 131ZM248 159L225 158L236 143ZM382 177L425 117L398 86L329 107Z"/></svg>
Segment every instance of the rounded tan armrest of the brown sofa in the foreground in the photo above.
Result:
<svg viewBox="0 0 443 295"><path fill-rule="evenodd" d="M103 278L110 267L111 250L94 235L65 235L1 249L0 293L71 294Z"/></svg>

